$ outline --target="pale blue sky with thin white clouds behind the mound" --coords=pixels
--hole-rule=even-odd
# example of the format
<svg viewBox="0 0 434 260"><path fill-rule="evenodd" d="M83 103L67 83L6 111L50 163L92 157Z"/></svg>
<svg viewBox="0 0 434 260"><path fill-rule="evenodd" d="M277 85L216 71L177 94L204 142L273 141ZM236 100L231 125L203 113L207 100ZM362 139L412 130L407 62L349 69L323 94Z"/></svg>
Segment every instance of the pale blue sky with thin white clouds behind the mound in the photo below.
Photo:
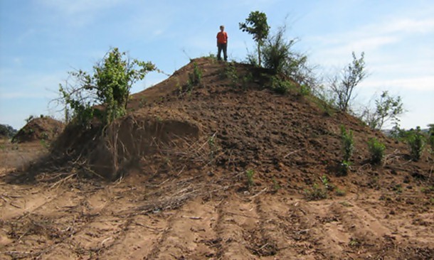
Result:
<svg viewBox="0 0 434 260"><path fill-rule="evenodd" d="M244 60L253 50L238 29L250 11L263 11L271 31L287 23L295 48L327 77L365 52L369 77L354 104L368 104L388 90L403 98L401 126L434 123L434 2L374 0L0 0L0 124L21 128L28 116L61 118L58 85L68 71L90 71L110 47L152 61L173 73L196 58L216 53L224 24L228 54ZM132 92L160 82L151 73Z"/></svg>

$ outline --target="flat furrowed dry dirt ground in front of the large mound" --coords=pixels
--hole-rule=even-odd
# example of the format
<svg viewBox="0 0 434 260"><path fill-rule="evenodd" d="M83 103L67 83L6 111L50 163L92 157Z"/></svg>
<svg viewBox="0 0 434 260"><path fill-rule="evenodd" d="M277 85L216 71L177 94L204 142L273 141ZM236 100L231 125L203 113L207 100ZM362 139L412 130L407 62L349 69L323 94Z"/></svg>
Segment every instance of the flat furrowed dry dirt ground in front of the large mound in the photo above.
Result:
<svg viewBox="0 0 434 260"><path fill-rule="evenodd" d="M231 175L213 181L207 174L179 173L154 182L132 173L115 183L73 175L31 185L2 182L1 259L434 256L434 205L418 188L307 201L272 185L239 189L242 176Z"/></svg>

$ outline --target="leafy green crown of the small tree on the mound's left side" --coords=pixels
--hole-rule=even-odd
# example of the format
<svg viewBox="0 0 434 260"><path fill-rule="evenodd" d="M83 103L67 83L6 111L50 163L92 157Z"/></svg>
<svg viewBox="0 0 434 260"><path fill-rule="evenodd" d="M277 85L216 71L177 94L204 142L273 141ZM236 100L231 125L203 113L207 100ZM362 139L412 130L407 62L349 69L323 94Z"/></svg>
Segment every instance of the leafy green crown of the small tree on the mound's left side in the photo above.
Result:
<svg viewBox="0 0 434 260"><path fill-rule="evenodd" d="M93 66L93 72L68 72L70 81L60 84L60 102L65 104L65 119L89 126L92 119L110 124L126 113L132 85L143 80L148 72L157 70L154 64L126 57L112 48ZM104 108L95 107L102 105Z"/></svg>

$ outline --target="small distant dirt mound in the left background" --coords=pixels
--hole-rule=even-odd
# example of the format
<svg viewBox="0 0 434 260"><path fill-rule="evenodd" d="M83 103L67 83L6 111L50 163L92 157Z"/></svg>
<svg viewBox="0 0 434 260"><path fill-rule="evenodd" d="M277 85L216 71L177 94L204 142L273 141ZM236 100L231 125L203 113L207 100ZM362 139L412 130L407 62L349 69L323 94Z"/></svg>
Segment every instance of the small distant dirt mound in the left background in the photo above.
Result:
<svg viewBox="0 0 434 260"><path fill-rule="evenodd" d="M16 133L12 142L53 141L63 131L63 123L51 117L39 117L29 121Z"/></svg>

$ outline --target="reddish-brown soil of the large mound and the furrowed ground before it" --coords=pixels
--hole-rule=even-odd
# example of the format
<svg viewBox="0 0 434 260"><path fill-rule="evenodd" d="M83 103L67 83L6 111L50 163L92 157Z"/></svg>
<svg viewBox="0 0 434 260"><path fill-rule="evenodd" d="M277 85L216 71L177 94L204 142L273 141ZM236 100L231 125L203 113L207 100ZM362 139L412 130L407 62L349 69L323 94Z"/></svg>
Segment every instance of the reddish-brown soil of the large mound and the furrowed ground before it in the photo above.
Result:
<svg viewBox="0 0 434 260"><path fill-rule="evenodd" d="M428 151L410 161L404 143L354 117L260 79L243 90L223 63L195 61L203 78L191 92L193 63L134 95L114 131L123 161L107 160L125 164L115 182L80 167L16 182L23 173L0 161L1 259L433 259ZM241 79L248 67L237 68ZM355 151L338 177L341 124ZM369 164L371 137L387 146L381 166ZM324 175L336 188L324 189ZM315 183L327 199L306 199Z"/></svg>

